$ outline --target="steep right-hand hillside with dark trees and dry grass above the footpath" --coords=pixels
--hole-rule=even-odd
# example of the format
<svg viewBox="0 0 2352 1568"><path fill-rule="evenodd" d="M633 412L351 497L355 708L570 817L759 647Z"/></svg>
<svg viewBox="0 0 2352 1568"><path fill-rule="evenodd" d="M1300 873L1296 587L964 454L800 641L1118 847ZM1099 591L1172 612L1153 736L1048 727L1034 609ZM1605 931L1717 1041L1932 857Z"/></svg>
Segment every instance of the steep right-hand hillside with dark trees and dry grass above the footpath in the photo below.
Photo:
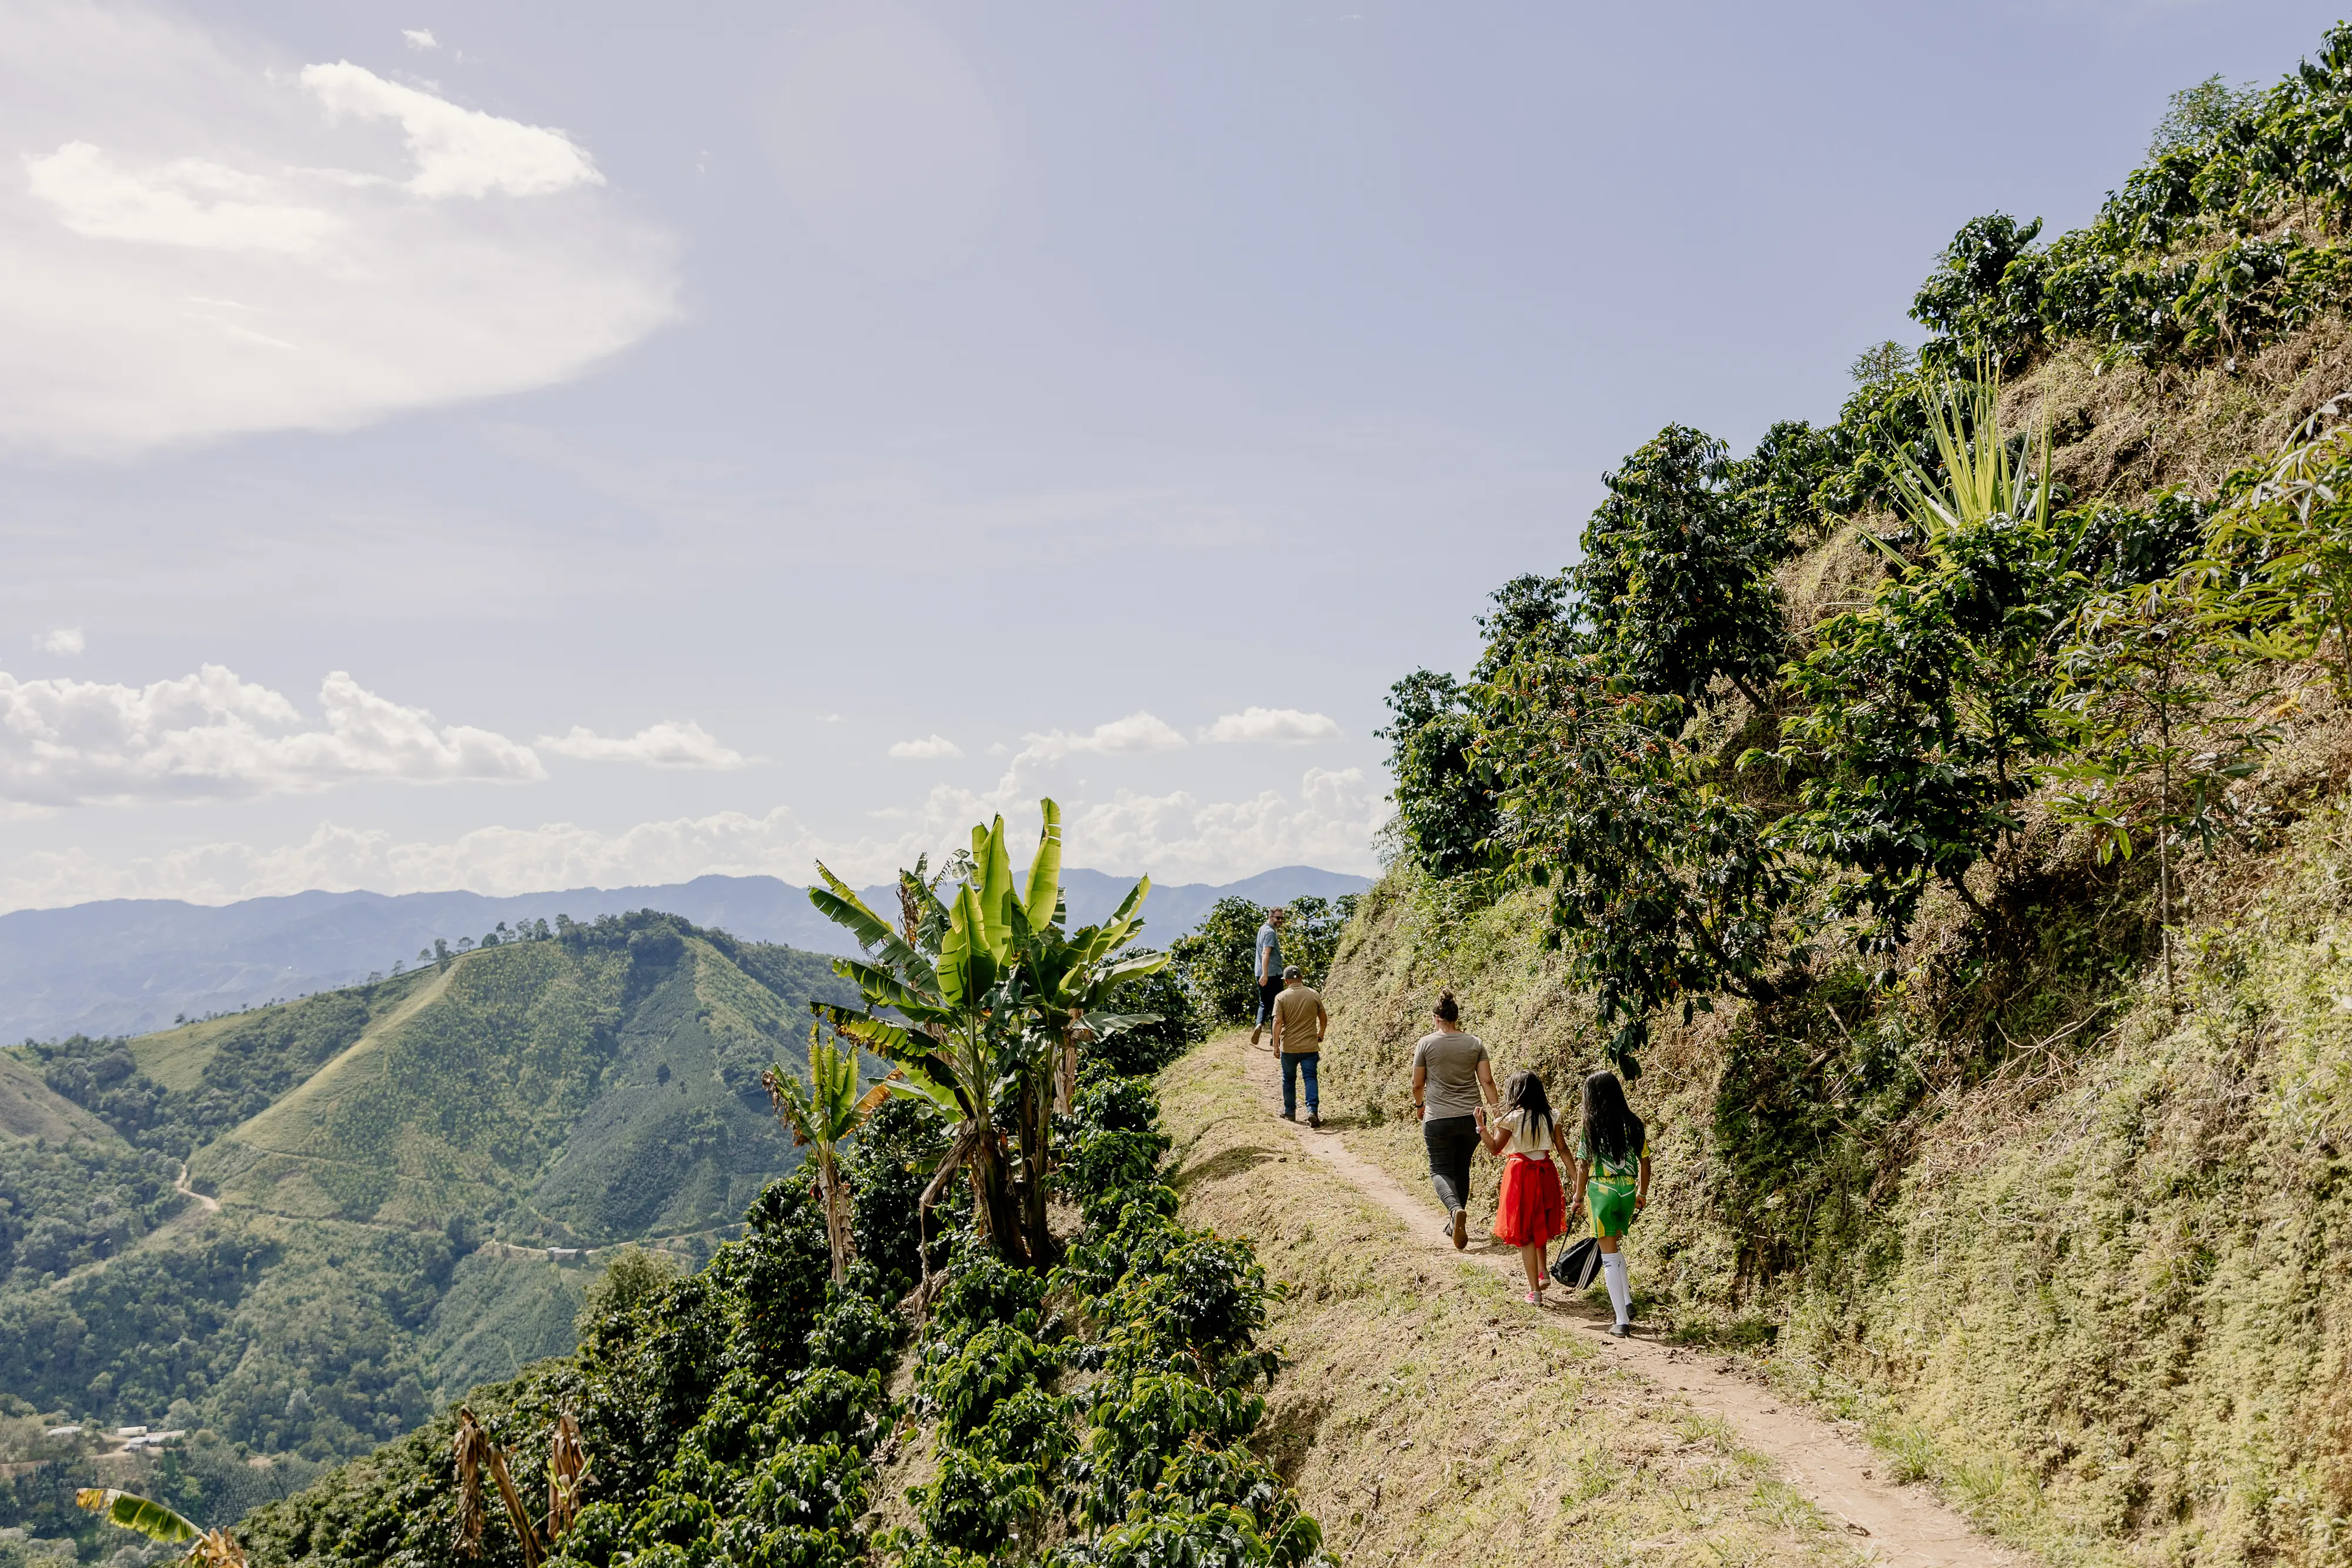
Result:
<svg viewBox="0 0 2352 1568"><path fill-rule="evenodd" d="M2051 1561L2352 1542L2347 80L2338 26L2089 228L1966 223L1835 425L1628 456L1395 686L1327 987L1399 1175L1439 987L1555 1105L1639 1065L1644 1316ZM1905 503L2002 442L2046 508Z"/></svg>

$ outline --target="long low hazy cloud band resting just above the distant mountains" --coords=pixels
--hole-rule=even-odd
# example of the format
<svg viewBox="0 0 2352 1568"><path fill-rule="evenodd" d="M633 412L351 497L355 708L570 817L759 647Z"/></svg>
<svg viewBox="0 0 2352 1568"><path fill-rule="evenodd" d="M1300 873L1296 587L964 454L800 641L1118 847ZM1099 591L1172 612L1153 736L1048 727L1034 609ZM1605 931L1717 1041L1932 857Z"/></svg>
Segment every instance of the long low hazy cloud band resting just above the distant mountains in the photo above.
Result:
<svg viewBox="0 0 2352 1568"><path fill-rule="evenodd" d="M0 910L89 898L228 903L303 889L532 893L689 882L708 872L807 884L818 858L851 882L880 882L913 865L917 853L936 860L964 844L971 823L985 820L990 809L969 792L934 788L913 811L875 813L903 823L901 832L856 839L823 837L790 806L774 806L760 816L717 811L621 832L576 823L477 827L445 842L400 842L383 830L320 823L308 839L275 849L198 844L120 865L78 849L40 851L0 870ZM1120 792L1068 816L1068 863L1150 872L1160 882L1235 882L1294 863L1369 872L1371 835L1385 816L1381 790L1357 769L1308 769L1296 802L1272 790L1240 802ZM1035 816L1021 806L1009 827L1035 832Z"/></svg>

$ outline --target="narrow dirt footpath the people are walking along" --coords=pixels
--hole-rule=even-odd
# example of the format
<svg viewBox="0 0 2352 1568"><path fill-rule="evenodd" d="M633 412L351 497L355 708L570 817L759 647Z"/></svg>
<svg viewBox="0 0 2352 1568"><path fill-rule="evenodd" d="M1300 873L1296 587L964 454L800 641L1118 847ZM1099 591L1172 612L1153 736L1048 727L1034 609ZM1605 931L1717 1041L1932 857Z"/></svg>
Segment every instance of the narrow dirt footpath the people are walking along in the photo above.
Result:
<svg viewBox="0 0 2352 1568"><path fill-rule="evenodd" d="M1282 1074L1272 1051L1251 1048L1247 1034L1232 1034L1211 1041L1204 1053L1221 1053L1242 1070L1256 1103L1272 1121L1272 1138L1296 1143L1298 1154L1315 1168L1395 1218L1399 1229L1385 1237L1388 1246L1491 1272L1510 1291L1517 1312L1573 1328L1609 1368L1644 1378L1658 1389L1679 1394L1703 1415L1719 1418L1743 1448L1771 1460L1788 1486L1835 1519L1867 1559L1938 1568L2020 1568L2032 1561L1980 1535L1926 1488L1884 1479L1884 1460L1867 1446L1790 1408L1726 1363L1703 1352L1646 1340L1639 1326L1635 1338L1611 1338L1604 1305L1585 1300L1555 1300L1543 1309L1524 1305L1517 1300L1526 1288L1519 1255L1515 1248L1484 1241L1482 1220L1472 1220L1470 1251L1456 1253L1432 1192L1404 1190L1388 1171L1350 1152L1336 1131L1310 1131L1303 1121L1294 1128L1279 1119Z"/></svg>

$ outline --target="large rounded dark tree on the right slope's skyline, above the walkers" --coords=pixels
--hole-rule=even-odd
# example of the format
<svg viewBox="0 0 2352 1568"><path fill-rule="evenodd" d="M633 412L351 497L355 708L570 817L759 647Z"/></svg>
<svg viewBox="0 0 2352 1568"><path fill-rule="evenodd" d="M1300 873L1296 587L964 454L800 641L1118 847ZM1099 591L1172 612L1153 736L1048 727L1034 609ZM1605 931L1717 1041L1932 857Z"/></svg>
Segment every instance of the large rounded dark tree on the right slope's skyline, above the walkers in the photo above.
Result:
<svg viewBox="0 0 2352 1568"><path fill-rule="evenodd" d="M1762 712L1785 637L1778 545L1738 503L1733 473L1719 440L1668 425L1602 475L1609 498L1571 581L1597 649L1632 686L1708 701L1724 679Z"/></svg>

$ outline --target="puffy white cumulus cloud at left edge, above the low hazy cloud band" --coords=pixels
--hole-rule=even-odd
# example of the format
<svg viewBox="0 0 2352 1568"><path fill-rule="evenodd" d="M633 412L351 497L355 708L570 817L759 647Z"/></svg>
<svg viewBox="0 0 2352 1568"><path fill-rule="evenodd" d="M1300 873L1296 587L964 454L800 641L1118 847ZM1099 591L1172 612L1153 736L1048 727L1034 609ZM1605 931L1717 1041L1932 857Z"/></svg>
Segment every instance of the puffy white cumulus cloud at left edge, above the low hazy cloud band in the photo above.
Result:
<svg viewBox="0 0 2352 1568"><path fill-rule="evenodd" d="M151 686L0 675L0 799L21 806L230 799L355 780L524 783L546 778L527 745L433 724L336 670L320 684L325 729L278 691L223 665Z"/></svg>

